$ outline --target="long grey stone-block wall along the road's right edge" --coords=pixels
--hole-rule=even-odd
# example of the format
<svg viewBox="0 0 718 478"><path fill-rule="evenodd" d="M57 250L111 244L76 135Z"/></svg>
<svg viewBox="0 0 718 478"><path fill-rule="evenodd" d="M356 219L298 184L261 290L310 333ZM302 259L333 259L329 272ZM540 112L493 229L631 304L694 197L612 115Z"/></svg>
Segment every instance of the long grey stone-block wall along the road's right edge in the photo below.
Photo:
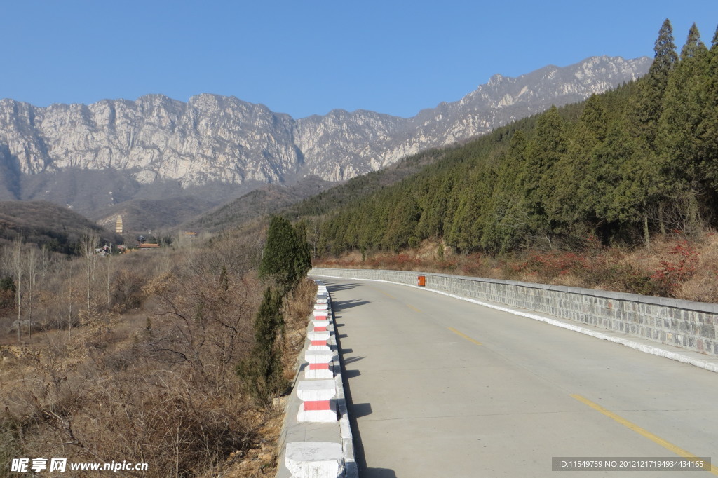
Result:
<svg viewBox="0 0 718 478"><path fill-rule="evenodd" d="M718 357L718 304L416 271L313 268L309 274L414 286L424 276L426 289L550 314Z"/></svg>

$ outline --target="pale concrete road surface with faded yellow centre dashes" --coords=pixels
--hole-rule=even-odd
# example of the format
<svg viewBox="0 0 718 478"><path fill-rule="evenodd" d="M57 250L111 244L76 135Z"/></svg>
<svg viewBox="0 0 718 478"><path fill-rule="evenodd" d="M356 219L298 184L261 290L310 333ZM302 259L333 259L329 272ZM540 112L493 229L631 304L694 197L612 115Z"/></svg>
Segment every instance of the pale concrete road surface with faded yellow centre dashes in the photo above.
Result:
<svg viewBox="0 0 718 478"><path fill-rule="evenodd" d="M362 478L711 476L552 472L554 456L718 465L718 374L419 289L324 281Z"/></svg>

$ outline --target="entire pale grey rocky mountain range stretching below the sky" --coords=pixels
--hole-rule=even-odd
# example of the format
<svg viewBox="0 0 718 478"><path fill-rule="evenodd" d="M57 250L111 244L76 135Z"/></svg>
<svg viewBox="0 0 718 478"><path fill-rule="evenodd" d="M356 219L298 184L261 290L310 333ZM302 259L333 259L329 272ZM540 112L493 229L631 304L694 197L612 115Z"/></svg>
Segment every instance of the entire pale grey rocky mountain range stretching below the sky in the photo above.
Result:
<svg viewBox="0 0 718 478"><path fill-rule="evenodd" d="M294 119L261 104L202 94L38 108L0 100L0 200L52 200L89 212L136 197L223 184L218 204L307 175L343 181L423 149L486 133L587 98L648 71L647 57L592 57L488 83L413 118L330 111ZM167 191L171 191L171 194ZM213 202L214 201L214 202Z"/></svg>

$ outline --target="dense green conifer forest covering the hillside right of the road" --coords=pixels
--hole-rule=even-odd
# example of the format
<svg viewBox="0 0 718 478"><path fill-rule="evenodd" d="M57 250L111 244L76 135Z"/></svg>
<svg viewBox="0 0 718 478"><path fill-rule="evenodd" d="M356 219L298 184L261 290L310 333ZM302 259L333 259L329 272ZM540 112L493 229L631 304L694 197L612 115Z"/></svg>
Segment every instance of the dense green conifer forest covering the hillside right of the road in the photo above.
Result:
<svg viewBox="0 0 718 478"><path fill-rule="evenodd" d="M318 252L398 251L425 239L490 254L638 245L714 226L718 34L708 49L694 25L676 52L666 20L655 52L634 83L444 151L321 218Z"/></svg>

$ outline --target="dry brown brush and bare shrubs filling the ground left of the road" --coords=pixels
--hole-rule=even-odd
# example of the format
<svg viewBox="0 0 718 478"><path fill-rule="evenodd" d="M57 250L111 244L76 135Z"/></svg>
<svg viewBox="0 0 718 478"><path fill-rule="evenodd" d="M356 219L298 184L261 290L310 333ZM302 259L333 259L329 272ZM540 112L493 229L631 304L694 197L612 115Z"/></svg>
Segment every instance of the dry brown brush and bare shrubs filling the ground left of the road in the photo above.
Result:
<svg viewBox="0 0 718 478"><path fill-rule="evenodd" d="M235 372L253 344L260 247L225 235L154 253L49 255L42 271L27 258L47 251L17 244L17 276L6 248L0 278L20 293L2 296L12 306L0 318L0 477L12 458L37 456L148 463L143 477L274 474L283 410L256 406ZM312 287L283 306L287 379Z"/></svg>

